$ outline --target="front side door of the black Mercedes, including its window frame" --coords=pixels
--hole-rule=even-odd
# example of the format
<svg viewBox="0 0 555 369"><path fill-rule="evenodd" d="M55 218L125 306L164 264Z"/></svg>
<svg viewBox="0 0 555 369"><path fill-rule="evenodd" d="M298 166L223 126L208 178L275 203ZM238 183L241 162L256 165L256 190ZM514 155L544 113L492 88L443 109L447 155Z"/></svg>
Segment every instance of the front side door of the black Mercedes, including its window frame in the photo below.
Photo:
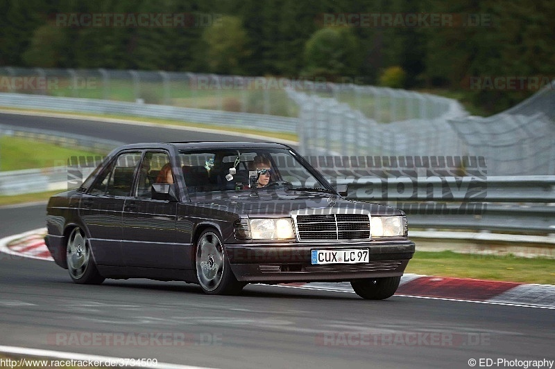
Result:
<svg viewBox="0 0 555 369"><path fill-rule="evenodd" d="M159 175L171 165L169 154L147 151L137 173L133 194L123 206L121 250L127 267L174 269L176 261L177 201L152 199L153 183L164 183ZM173 174L171 174L173 181Z"/></svg>

